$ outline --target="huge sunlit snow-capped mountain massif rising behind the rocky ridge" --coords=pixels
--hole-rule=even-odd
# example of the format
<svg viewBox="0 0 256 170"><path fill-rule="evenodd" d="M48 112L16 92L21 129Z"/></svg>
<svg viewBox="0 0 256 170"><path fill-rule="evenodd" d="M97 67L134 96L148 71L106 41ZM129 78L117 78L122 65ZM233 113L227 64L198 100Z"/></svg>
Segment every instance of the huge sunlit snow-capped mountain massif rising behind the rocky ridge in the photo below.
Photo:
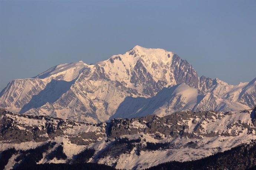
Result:
<svg viewBox="0 0 256 170"><path fill-rule="evenodd" d="M33 78L15 79L0 93L0 106L13 112L88 122L255 104L256 79L229 85L198 77L177 54L138 45L95 64L60 64Z"/></svg>

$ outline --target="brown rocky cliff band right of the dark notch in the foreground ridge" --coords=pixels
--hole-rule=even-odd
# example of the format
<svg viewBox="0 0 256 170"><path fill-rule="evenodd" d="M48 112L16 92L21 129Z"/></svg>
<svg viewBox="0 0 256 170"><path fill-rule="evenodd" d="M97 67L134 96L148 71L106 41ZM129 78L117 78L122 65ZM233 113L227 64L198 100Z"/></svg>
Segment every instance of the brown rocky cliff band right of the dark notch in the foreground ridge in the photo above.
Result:
<svg viewBox="0 0 256 170"><path fill-rule="evenodd" d="M247 130L247 133L251 134L255 128L252 126L253 122L250 122L249 119L249 122L237 120L237 123L230 121L226 122L227 124L225 125L221 124L226 119L233 119L238 115L239 117L244 116L243 114L249 116L250 112L248 110L238 113L214 111L177 112L164 117L150 115L143 118L113 119L110 124L110 137L134 135L141 132L150 134L161 133L171 137L179 136L197 139L214 136L239 136L244 130ZM214 131L210 131L209 129L211 128L209 126L214 126L212 127ZM241 128L241 130L232 130L234 126L239 127L239 129Z"/></svg>

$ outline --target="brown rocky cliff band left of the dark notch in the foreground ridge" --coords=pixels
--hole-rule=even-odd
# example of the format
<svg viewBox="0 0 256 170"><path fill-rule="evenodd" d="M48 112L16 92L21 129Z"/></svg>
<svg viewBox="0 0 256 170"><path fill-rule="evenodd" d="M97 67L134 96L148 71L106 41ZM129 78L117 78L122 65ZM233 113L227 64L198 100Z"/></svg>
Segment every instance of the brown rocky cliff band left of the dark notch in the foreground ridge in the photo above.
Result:
<svg viewBox="0 0 256 170"><path fill-rule="evenodd" d="M105 136L106 123L91 124L49 116L19 115L0 109L0 140L7 143L45 142L65 136L76 145L96 143Z"/></svg>

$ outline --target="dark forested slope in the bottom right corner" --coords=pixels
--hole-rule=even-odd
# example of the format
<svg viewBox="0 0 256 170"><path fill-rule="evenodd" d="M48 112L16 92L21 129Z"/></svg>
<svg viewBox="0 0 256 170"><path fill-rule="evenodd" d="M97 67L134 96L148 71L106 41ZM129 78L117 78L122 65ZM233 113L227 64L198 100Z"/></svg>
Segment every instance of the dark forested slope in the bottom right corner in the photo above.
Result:
<svg viewBox="0 0 256 170"><path fill-rule="evenodd" d="M145 170L256 169L256 143L188 162L166 162Z"/></svg>

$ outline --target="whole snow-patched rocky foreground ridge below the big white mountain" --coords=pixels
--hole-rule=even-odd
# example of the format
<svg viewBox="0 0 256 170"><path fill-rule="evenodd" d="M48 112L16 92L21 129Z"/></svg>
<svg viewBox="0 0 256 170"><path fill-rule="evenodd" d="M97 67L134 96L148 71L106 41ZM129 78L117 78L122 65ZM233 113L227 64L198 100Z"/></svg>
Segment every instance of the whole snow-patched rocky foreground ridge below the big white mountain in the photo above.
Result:
<svg viewBox="0 0 256 170"><path fill-rule="evenodd" d="M196 160L251 143L256 140L253 114L255 109L187 111L92 124L0 109L0 153L11 153L7 169L28 160L34 164L92 162L144 169L173 160Z"/></svg>

